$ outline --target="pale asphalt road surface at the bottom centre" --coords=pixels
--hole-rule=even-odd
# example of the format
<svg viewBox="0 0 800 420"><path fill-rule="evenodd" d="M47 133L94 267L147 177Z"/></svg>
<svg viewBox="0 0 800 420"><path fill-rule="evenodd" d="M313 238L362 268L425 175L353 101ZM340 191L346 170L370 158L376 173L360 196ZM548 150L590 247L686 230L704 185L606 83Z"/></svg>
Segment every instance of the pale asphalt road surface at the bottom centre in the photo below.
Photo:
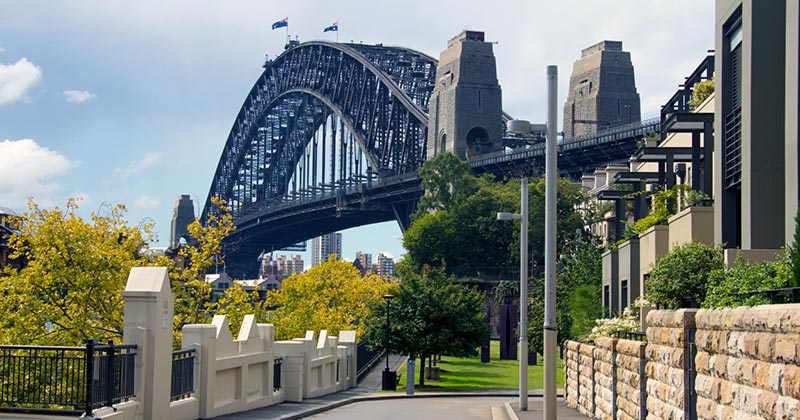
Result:
<svg viewBox="0 0 800 420"><path fill-rule="evenodd" d="M511 401L511 397L411 398L353 403L309 417L317 420L486 420L491 407Z"/></svg>

